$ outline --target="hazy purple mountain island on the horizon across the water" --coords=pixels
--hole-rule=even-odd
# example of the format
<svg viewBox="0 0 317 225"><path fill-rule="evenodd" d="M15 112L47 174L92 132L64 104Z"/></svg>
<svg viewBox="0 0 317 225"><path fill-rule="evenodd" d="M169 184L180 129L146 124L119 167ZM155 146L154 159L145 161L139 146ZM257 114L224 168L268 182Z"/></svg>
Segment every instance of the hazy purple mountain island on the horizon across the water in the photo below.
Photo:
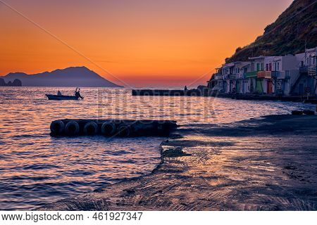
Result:
<svg viewBox="0 0 317 225"><path fill-rule="evenodd" d="M96 72L85 67L72 67L35 75L27 75L24 72L11 72L2 78L6 82L20 79L23 86L123 87L109 82Z"/></svg>

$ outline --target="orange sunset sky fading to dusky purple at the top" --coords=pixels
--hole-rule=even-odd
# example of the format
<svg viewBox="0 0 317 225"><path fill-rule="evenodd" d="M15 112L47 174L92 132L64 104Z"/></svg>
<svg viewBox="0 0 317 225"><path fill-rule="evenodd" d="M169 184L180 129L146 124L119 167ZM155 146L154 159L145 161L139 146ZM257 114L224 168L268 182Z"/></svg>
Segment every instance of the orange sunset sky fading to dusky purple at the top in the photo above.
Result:
<svg viewBox="0 0 317 225"><path fill-rule="evenodd" d="M0 0L0 75L85 65L125 86L205 84L213 68L254 41L291 3Z"/></svg>

